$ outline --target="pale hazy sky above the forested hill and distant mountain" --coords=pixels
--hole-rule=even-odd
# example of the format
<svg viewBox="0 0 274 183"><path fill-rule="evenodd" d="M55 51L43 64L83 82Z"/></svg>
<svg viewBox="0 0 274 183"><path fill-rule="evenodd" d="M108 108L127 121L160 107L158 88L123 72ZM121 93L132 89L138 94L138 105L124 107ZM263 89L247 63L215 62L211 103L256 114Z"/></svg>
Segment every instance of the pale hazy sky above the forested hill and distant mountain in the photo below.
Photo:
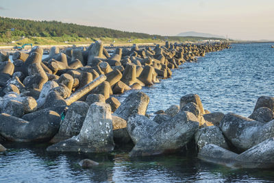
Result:
<svg viewBox="0 0 274 183"><path fill-rule="evenodd" d="M0 0L0 16L130 32L274 40L274 0Z"/></svg>

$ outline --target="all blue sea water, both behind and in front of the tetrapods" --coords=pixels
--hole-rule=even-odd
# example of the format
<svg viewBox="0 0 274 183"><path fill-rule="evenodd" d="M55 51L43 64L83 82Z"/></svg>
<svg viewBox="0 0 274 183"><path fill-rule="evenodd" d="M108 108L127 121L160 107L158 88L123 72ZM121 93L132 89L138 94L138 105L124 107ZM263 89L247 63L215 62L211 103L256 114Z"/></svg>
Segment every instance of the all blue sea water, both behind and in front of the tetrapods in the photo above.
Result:
<svg viewBox="0 0 274 183"><path fill-rule="evenodd" d="M208 53L197 63L173 70L173 77L142 90L150 97L148 113L179 104L179 98L197 93L212 112L251 114L260 95L273 95L273 44L232 45ZM130 91L128 92L130 93ZM127 95L119 97L123 100ZM129 158L131 147L110 154L59 154L47 144L6 143L0 154L0 182L273 182L274 170L229 169L202 162L195 154ZM100 163L82 169L77 162Z"/></svg>

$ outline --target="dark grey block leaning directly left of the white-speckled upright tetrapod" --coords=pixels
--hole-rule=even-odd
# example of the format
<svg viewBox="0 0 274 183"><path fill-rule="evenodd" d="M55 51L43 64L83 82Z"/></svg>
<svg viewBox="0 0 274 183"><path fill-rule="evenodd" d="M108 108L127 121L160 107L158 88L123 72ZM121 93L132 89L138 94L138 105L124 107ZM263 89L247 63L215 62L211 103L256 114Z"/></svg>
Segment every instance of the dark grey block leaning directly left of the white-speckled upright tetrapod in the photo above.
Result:
<svg viewBox="0 0 274 183"><path fill-rule="evenodd" d="M79 134L88 108L88 104L84 101L75 101L72 103L66 112L64 120L60 124L58 134L51 139L51 143L59 143Z"/></svg>

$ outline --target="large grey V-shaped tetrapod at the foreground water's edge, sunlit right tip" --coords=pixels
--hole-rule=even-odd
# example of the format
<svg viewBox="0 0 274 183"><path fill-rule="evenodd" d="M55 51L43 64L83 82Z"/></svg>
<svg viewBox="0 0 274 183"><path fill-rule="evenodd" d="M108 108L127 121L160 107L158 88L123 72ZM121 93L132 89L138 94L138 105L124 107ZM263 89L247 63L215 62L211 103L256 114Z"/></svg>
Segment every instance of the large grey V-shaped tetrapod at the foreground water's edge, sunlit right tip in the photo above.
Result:
<svg viewBox="0 0 274 183"><path fill-rule="evenodd" d="M127 131L135 143L129 156L151 156L184 147L198 128L199 121L191 112L179 112L161 124L134 114L127 121Z"/></svg>

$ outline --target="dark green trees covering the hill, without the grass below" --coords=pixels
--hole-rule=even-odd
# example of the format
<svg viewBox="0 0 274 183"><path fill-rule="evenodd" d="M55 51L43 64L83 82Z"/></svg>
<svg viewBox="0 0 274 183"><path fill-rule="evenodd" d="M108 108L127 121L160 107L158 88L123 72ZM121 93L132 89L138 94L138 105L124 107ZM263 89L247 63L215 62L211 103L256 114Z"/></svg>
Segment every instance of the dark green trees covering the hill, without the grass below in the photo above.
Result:
<svg viewBox="0 0 274 183"><path fill-rule="evenodd" d="M62 23L59 21L32 21L0 16L0 38L12 38L18 36L71 36L79 38L153 38L158 40L186 40L186 37L179 36L159 36L137 32L123 32L103 27L77 25L75 23ZM188 38L197 40L198 37Z"/></svg>

